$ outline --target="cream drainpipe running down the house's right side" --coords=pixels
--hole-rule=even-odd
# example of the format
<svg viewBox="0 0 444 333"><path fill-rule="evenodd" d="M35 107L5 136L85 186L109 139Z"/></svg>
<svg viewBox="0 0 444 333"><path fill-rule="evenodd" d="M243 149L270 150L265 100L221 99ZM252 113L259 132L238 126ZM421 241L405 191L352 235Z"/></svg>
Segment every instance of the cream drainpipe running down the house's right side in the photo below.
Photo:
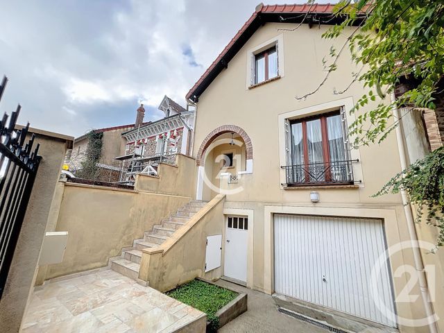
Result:
<svg viewBox="0 0 444 333"><path fill-rule="evenodd" d="M391 93L390 99L392 103L396 101L394 92ZM402 126L400 123L400 111L398 110L398 107L396 105L393 107L393 118L395 122L398 121L398 126L396 127L395 132L396 132L396 139L398 140L398 151L400 154L401 169L405 170L407 169L407 158L405 155L404 137L402 133ZM416 272L418 273L418 281L422 296L422 303L425 308L426 316L428 318L432 318L432 316L434 316L434 311L432 308L432 304L430 304L429 302L430 300L429 289L427 287L427 279L425 277L424 264L422 262L420 249L418 247L418 234L416 233L415 221L413 219L413 212L411 211L411 205L409 203L409 198L407 198L406 191L401 190L400 192L402 198L402 205L404 205L404 214L407 219L407 227L409 229L409 236L413 250L413 260L415 262ZM436 327L435 322L429 321L429 332L438 333L438 327Z"/></svg>

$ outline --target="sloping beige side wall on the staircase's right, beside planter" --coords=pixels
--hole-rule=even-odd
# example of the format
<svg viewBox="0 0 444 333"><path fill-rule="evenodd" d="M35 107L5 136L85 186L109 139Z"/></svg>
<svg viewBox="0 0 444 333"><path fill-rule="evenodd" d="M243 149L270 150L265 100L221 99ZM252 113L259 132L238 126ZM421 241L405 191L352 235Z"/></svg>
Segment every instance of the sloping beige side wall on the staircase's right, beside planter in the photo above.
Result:
<svg viewBox="0 0 444 333"><path fill-rule="evenodd" d="M139 279L167 291L196 277L220 278L221 267L205 273L205 241L223 232L224 200L225 196L217 195L164 244L142 250Z"/></svg>

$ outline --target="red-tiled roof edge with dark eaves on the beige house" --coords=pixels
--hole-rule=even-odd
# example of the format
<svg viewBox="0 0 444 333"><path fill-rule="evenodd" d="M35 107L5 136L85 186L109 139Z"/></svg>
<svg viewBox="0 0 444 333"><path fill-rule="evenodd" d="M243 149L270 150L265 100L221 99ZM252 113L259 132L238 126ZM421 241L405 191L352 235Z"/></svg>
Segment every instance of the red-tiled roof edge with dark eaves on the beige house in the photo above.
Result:
<svg viewBox="0 0 444 333"><path fill-rule="evenodd" d="M236 53L246 44L257 29L267 22L275 23L301 23L307 24L336 24L343 22L344 15L336 17L332 3L312 3L294 5L268 5L260 3L253 15L245 22L244 26L230 40L225 49L219 54L214 62L208 67L205 73L200 76L196 84L187 93L187 99L196 102L200 94L213 82L221 71L228 67L228 62L234 58ZM323 21L322 18L325 18ZM361 17L365 19L365 15ZM354 25L361 23L361 19L354 22Z"/></svg>

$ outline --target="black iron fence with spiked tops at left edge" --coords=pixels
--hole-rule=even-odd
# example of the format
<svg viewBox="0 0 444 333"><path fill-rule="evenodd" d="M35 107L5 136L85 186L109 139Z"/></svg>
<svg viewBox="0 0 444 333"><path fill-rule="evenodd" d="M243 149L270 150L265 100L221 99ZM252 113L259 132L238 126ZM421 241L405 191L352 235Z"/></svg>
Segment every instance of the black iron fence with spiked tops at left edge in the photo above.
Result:
<svg viewBox="0 0 444 333"><path fill-rule="evenodd" d="M6 83L4 77L0 100ZM18 105L10 117L3 114L0 121L0 298L40 162L39 145L33 149L34 136L25 142L29 123L25 128L15 128L20 108Z"/></svg>

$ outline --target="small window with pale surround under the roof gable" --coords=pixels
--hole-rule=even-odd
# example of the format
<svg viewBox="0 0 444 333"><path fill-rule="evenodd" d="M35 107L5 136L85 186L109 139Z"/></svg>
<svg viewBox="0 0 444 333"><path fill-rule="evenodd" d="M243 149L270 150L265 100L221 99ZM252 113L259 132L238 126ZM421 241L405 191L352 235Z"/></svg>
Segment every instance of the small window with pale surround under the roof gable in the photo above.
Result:
<svg viewBox="0 0 444 333"><path fill-rule="evenodd" d="M247 89L284 76L284 37L282 34L247 51Z"/></svg>

